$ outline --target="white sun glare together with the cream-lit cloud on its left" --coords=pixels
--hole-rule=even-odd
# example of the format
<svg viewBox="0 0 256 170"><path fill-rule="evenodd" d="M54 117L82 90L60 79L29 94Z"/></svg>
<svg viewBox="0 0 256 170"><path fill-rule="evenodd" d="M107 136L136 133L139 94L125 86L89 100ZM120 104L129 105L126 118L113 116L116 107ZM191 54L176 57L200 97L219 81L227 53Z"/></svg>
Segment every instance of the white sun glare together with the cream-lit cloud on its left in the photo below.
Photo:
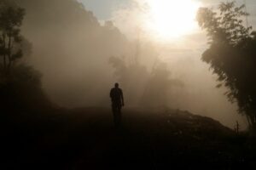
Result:
<svg viewBox="0 0 256 170"><path fill-rule="evenodd" d="M112 20L131 37L174 42L198 31L195 15L200 6L201 3L194 0L132 0L128 7L121 6L113 11ZM123 21L130 26L123 27L126 25Z"/></svg>

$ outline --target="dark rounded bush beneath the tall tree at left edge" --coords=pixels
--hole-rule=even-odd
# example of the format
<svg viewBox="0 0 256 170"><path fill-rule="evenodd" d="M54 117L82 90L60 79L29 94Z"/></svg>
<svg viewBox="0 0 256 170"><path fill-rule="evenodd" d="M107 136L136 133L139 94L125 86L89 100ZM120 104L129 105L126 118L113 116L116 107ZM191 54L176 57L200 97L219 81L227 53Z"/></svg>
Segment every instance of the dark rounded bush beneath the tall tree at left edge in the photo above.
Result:
<svg viewBox="0 0 256 170"><path fill-rule="evenodd" d="M31 66L14 65L9 75L0 74L1 116L39 114L51 109L51 103L41 87L41 74Z"/></svg>

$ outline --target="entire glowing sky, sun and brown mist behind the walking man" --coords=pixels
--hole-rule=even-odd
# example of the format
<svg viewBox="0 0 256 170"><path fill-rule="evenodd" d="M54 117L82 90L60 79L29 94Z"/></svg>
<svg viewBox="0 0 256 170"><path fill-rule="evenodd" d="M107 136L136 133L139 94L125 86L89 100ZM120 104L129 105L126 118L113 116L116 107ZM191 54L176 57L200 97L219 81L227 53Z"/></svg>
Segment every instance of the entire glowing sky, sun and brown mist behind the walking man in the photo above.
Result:
<svg viewBox="0 0 256 170"><path fill-rule="evenodd" d="M44 91L57 105L109 108L109 89L120 82L126 108L166 105L232 128L236 120L247 126L224 96L227 89L216 88L217 77L201 61L207 37L197 26L196 11L221 1L17 2L26 8L22 35L32 42L27 62L42 73ZM247 3L254 26L255 2ZM156 73L162 82L154 79Z"/></svg>

